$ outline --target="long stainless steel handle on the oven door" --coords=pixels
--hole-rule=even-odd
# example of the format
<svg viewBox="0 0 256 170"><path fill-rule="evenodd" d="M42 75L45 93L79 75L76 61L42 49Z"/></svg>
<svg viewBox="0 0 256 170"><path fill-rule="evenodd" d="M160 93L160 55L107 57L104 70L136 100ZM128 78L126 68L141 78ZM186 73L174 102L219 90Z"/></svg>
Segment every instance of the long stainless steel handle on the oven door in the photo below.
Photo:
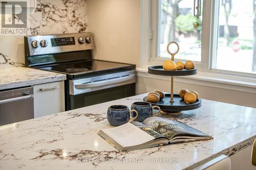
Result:
<svg viewBox="0 0 256 170"><path fill-rule="evenodd" d="M110 85L110 84L114 84L114 83L120 83L120 82L124 82L124 81L128 81L128 80L132 80L135 78L135 76L136 76L135 74L132 74L129 76L120 77L120 78L116 78L116 79L103 80L103 81L99 81L99 82L86 83L86 84L78 84L78 85L75 85L75 88L83 89L83 88L90 88L90 87L105 86L105 85Z"/></svg>

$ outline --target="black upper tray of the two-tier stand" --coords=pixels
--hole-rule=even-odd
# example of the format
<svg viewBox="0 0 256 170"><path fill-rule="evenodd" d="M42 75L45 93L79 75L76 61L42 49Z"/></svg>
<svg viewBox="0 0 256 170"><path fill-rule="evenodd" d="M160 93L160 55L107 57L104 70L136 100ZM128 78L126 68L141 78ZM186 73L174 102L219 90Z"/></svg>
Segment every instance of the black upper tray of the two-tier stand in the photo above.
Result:
<svg viewBox="0 0 256 170"><path fill-rule="evenodd" d="M194 69L183 69L183 70L174 70L166 71L163 69L162 65L153 65L148 67L149 74L160 75L160 76L190 76L197 74L197 68Z"/></svg>

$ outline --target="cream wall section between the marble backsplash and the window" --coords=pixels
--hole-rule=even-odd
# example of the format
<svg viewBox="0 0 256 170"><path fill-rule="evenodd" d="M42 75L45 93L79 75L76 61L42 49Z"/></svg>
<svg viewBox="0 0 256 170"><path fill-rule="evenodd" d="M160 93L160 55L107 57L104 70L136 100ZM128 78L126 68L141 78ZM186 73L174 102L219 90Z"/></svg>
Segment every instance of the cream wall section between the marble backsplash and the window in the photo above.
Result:
<svg viewBox="0 0 256 170"><path fill-rule="evenodd" d="M140 0L88 0L94 58L140 64Z"/></svg>

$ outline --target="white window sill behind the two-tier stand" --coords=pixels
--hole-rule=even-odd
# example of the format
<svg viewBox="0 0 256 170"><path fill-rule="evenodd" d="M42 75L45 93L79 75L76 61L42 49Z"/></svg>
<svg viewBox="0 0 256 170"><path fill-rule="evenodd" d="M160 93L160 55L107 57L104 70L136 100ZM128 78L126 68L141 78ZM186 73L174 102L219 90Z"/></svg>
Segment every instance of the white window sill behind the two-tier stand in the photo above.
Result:
<svg viewBox="0 0 256 170"><path fill-rule="evenodd" d="M136 68L137 76L144 78L151 78L157 80L170 81L168 76L151 75L147 73L147 68ZM189 82L188 82L189 80ZM222 89L244 91L249 93L256 93L256 79L224 75L215 72L198 71L197 75L175 77L174 81L181 83L190 83L208 87L216 87Z"/></svg>

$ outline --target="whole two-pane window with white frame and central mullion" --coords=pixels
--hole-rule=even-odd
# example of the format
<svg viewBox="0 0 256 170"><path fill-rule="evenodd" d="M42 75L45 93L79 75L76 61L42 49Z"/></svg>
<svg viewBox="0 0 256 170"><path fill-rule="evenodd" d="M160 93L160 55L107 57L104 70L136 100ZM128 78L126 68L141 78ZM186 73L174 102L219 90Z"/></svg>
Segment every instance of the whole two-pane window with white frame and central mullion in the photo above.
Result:
<svg viewBox="0 0 256 170"><path fill-rule="evenodd" d="M197 10L199 2L201 8ZM151 3L150 27L153 33L156 31L151 42L151 57L155 60L151 61L169 58L166 45L175 40L180 44L176 60L201 63L203 71L255 76L256 0L158 0ZM201 15L197 16L197 11Z"/></svg>

